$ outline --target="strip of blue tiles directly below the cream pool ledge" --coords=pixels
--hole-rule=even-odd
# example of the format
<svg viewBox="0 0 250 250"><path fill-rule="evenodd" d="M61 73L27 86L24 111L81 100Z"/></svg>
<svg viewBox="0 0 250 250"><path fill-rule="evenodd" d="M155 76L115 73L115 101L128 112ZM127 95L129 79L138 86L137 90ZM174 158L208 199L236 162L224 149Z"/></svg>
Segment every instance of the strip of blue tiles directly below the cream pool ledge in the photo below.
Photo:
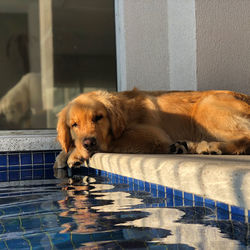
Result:
<svg viewBox="0 0 250 250"><path fill-rule="evenodd" d="M172 189L167 186L110 173L105 170L99 170L91 167L85 168L84 170L87 175L93 174L94 176L97 175L107 177L108 184L127 184L128 187L124 188L124 191L145 191L147 193L151 193L152 197L156 199L156 203L152 203L149 207L206 207L214 211L216 219L240 221L247 224L250 222L250 210L244 208L225 204L220 201L206 199L201 196ZM157 199L161 199L161 202ZM139 207L143 208L144 206L139 205Z"/></svg>

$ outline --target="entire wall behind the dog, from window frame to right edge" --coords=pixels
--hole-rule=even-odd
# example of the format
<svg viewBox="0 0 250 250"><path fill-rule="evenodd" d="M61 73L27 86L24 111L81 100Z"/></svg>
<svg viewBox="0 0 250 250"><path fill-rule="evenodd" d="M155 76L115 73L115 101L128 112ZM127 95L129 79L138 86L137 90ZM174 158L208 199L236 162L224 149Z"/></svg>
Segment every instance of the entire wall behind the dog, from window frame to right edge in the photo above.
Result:
<svg viewBox="0 0 250 250"><path fill-rule="evenodd" d="M115 0L118 90L250 93L250 1Z"/></svg>

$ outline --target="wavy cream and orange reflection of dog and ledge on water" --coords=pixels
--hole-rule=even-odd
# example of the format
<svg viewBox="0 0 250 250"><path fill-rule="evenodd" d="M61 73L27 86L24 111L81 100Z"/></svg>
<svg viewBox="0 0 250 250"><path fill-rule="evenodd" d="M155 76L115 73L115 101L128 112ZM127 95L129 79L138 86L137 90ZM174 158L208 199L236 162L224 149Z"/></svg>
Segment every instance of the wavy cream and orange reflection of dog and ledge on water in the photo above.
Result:
<svg viewBox="0 0 250 250"><path fill-rule="evenodd" d="M61 171L59 175L66 177ZM78 176L70 183L62 187L66 195L58 204L60 216L72 220L62 224L60 233L91 234L96 239L83 246L223 249L226 244L227 249L244 249L249 244L246 224L216 221L209 208L159 207L149 193L128 192L126 184L111 185L100 177ZM232 235L240 228L241 236Z"/></svg>

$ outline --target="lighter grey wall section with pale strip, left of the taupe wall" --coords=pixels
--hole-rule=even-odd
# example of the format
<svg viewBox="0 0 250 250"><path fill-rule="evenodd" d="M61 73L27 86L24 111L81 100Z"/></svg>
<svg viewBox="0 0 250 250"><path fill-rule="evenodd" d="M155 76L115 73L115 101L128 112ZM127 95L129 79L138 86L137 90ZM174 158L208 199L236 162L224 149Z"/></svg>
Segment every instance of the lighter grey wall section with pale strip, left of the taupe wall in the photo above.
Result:
<svg viewBox="0 0 250 250"><path fill-rule="evenodd" d="M196 89L194 0L117 0L118 90Z"/></svg>

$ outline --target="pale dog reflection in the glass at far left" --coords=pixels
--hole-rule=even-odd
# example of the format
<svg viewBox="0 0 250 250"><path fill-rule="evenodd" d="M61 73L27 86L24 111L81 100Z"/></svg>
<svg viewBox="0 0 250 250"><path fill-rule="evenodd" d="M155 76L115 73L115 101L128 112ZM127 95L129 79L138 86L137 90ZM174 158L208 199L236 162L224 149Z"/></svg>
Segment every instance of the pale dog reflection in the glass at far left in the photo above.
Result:
<svg viewBox="0 0 250 250"><path fill-rule="evenodd" d="M30 128L31 114L41 109L41 80L36 73L24 75L0 100L0 115L7 128Z"/></svg>

